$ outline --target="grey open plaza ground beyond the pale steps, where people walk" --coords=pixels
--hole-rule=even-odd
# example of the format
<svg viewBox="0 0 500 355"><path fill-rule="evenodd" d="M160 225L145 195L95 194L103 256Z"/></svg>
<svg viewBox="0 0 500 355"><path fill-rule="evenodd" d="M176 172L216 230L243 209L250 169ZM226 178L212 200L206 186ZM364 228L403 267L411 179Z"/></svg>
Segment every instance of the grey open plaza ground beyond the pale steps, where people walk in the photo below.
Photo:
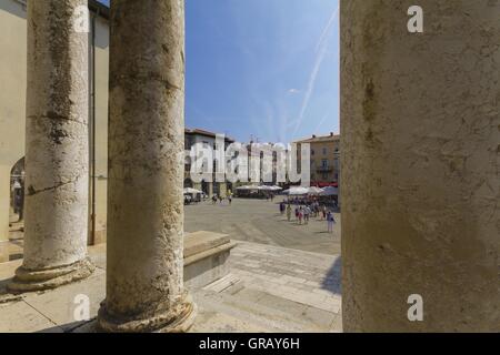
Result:
<svg viewBox="0 0 500 355"><path fill-rule="evenodd" d="M269 244L307 252L340 254L340 214L334 214L333 233L327 233L327 222L311 219L308 225L288 222L279 213L279 202L234 199L229 205L202 202L186 206L186 231L210 231L228 234L231 240ZM293 213L292 213L293 214Z"/></svg>

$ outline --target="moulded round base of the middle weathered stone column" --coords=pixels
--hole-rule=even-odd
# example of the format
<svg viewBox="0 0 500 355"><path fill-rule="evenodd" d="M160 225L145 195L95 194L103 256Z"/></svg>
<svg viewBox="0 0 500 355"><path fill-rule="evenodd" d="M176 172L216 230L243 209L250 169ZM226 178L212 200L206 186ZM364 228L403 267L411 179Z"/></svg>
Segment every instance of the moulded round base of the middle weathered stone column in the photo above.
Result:
<svg viewBox="0 0 500 355"><path fill-rule="evenodd" d="M182 311L167 312L153 317L140 316L134 320L118 320L108 314L106 306L101 305L98 316L98 331L106 333L187 333L194 324L198 313L191 295L187 295L178 306ZM173 314L180 314L173 316Z"/></svg>

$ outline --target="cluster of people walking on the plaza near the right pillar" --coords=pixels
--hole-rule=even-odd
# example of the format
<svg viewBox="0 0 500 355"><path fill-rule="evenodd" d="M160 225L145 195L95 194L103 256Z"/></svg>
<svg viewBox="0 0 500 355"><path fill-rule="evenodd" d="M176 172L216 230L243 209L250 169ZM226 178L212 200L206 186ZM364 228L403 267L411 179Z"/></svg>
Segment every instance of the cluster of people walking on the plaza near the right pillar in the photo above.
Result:
<svg viewBox="0 0 500 355"><path fill-rule="evenodd" d="M280 203L281 215L287 214L289 222L292 220L292 204L289 201ZM294 217L299 225L309 224L311 217L320 219L320 221L327 221L328 232L333 233L333 225L337 223L333 213L327 209L326 205L320 205L318 201L312 201L307 204L294 205Z"/></svg>

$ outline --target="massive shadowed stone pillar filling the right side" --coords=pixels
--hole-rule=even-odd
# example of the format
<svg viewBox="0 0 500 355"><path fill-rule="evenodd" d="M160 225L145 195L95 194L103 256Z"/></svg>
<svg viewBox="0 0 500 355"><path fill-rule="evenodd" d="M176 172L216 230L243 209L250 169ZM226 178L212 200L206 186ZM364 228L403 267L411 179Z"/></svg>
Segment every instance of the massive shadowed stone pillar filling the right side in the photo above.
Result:
<svg viewBox="0 0 500 355"><path fill-rule="evenodd" d="M343 327L498 332L500 3L412 4L341 1Z"/></svg>

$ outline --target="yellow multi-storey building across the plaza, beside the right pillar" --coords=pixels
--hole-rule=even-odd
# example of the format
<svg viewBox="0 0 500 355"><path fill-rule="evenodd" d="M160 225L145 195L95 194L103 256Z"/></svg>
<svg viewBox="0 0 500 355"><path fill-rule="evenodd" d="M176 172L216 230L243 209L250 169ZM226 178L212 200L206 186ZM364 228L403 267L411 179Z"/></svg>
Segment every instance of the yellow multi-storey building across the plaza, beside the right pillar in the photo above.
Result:
<svg viewBox="0 0 500 355"><path fill-rule="evenodd" d="M312 186L338 186L340 179L340 135L312 135L311 138L297 141L297 149L303 143L311 148L311 185ZM298 155L300 166L300 155Z"/></svg>

